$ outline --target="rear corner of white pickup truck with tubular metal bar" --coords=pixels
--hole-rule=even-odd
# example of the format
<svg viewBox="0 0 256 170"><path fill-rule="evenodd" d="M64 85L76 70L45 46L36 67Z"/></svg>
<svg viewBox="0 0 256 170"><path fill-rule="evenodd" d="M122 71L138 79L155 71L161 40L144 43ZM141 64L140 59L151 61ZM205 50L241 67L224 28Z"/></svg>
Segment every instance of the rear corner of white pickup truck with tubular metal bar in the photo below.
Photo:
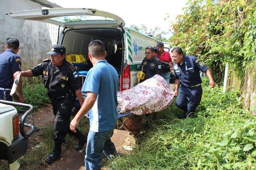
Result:
<svg viewBox="0 0 256 170"><path fill-rule="evenodd" d="M28 138L35 132L33 110L32 105L0 100L0 159L8 161L10 170L19 169L17 159L26 153Z"/></svg>

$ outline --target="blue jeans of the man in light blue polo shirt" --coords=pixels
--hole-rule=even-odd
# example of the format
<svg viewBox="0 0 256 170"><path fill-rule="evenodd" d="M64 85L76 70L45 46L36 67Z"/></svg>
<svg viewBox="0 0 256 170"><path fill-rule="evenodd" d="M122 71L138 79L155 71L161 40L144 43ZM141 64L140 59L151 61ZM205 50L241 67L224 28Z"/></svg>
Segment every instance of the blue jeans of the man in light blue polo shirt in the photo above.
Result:
<svg viewBox="0 0 256 170"><path fill-rule="evenodd" d="M113 133L113 129L104 132L89 131L84 159L85 170L101 169L103 150L108 156L116 154L116 147L110 139Z"/></svg>

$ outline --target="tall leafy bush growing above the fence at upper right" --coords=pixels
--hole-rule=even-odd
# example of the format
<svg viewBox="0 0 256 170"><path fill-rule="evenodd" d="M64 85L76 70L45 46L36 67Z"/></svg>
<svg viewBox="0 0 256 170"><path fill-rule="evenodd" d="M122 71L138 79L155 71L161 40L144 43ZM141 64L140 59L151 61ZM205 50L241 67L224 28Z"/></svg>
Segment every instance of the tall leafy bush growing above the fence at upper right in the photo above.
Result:
<svg viewBox="0 0 256 170"><path fill-rule="evenodd" d="M172 23L172 46L204 60L220 82L226 62L244 70L256 59L255 7L255 0L189 0Z"/></svg>

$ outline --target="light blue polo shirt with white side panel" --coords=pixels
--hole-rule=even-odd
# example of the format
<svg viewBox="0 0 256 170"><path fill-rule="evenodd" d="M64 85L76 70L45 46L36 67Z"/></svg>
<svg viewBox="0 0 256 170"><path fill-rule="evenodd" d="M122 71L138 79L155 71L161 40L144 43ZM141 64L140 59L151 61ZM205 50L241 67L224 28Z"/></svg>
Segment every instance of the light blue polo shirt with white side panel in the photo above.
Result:
<svg viewBox="0 0 256 170"><path fill-rule="evenodd" d="M115 127L117 113L118 75L107 60L99 60L90 69L82 91L98 94L93 108L89 111L90 130L103 132Z"/></svg>

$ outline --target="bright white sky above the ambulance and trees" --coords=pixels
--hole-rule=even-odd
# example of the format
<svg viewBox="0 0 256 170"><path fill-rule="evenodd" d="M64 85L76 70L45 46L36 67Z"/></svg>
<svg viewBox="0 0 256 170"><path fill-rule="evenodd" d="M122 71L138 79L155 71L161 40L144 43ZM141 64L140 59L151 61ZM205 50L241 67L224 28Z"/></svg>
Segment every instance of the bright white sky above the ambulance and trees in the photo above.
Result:
<svg viewBox="0 0 256 170"><path fill-rule="evenodd" d="M48 0L64 8L95 8L118 15L125 27L145 24L148 29L156 26L169 31L170 21L183 14L188 0ZM169 18L165 18L169 15ZM149 30L148 30L149 31ZM168 38L171 34L164 37Z"/></svg>

